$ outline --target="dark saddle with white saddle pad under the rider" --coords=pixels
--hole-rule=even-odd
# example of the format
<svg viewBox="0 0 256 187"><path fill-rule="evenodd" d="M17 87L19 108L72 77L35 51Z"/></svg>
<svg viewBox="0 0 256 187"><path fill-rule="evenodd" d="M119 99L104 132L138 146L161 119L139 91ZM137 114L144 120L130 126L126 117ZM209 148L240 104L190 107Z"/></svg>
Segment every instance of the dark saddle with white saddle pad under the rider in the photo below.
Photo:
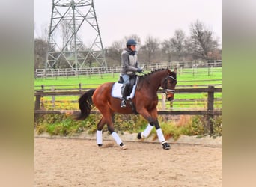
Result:
<svg viewBox="0 0 256 187"><path fill-rule="evenodd" d="M129 91L128 91L128 95L127 95L127 99L132 99L133 96L135 95L135 89L136 89L136 85L138 82L138 76L132 76L129 79ZM122 98L122 94L121 94L121 88L123 86L124 80L123 78L120 76L118 82L115 82L114 85L112 86L112 91L111 91L111 95L115 98Z"/></svg>

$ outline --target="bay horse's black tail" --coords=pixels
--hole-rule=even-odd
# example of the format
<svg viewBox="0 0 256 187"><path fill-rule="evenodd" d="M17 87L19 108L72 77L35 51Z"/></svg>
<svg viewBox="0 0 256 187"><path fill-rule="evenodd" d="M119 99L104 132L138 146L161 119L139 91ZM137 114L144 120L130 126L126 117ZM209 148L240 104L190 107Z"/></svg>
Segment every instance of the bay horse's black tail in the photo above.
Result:
<svg viewBox="0 0 256 187"><path fill-rule="evenodd" d="M94 94L95 89L91 89L87 92L85 92L82 96L79 98L79 108L81 113L78 117L76 117L77 120L85 120L86 117L91 112L91 108L94 105L94 102L91 99L91 96Z"/></svg>

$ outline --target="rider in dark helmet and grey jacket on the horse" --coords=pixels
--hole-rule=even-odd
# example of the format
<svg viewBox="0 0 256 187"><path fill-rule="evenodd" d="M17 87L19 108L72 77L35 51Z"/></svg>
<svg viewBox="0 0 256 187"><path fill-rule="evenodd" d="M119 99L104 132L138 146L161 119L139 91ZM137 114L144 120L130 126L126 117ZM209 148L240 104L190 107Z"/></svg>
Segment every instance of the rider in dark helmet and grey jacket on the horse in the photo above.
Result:
<svg viewBox="0 0 256 187"><path fill-rule="evenodd" d="M124 79L124 85L122 86L121 94L123 95L121 101L121 108L126 108L126 98L129 91L129 77L135 76L135 73L141 73L141 67L138 67L138 56L136 51L136 45L134 39L127 40L127 47L121 54L121 76Z"/></svg>

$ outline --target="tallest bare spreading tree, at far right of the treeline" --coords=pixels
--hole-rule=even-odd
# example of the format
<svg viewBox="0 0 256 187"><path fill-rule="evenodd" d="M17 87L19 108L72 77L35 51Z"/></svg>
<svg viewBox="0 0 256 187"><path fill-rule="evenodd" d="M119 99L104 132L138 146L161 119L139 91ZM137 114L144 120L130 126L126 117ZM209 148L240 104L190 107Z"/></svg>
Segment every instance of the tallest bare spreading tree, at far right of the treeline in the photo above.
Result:
<svg viewBox="0 0 256 187"><path fill-rule="evenodd" d="M192 49L195 57L209 59L210 52L218 47L218 41L213 39L213 32L207 30L198 20L190 26Z"/></svg>

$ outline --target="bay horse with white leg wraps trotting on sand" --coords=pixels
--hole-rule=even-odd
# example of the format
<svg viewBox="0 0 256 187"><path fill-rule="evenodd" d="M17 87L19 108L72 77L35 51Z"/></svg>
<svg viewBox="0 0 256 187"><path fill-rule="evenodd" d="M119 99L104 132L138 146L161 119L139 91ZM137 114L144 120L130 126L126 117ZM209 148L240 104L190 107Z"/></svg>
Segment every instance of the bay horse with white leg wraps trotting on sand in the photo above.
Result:
<svg viewBox="0 0 256 187"><path fill-rule="evenodd" d="M132 98L133 108L138 114L141 114L144 119L148 121L146 129L143 132L138 132L138 139L147 138L150 135L153 126L156 128L156 134L159 138L159 142L162 144L164 150L170 149L170 145L165 141L165 137L162 133L162 129L159 126L157 120L157 103L158 96L157 91L161 87L166 94L168 101L174 99L175 86L177 84L177 69L174 71L167 69L154 70L151 73L147 73L144 76L138 76L138 82L135 90L135 96ZM79 108L81 113L77 117L78 120L84 120L91 112L91 108L95 105L102 118L97 124L97 145L103 146L102 129L105 124L108 126L108 130L115 139L115 142L121 147L122 150L126 150L127 147L121 141L121 138L115 132L114 129L114 114L134 114L131 105L127 105L126 108L121 108L121 99L114 98L111 95L112 86L115 82L106 82L96 89L91 89L85 92L79 98Z"/></svg>

